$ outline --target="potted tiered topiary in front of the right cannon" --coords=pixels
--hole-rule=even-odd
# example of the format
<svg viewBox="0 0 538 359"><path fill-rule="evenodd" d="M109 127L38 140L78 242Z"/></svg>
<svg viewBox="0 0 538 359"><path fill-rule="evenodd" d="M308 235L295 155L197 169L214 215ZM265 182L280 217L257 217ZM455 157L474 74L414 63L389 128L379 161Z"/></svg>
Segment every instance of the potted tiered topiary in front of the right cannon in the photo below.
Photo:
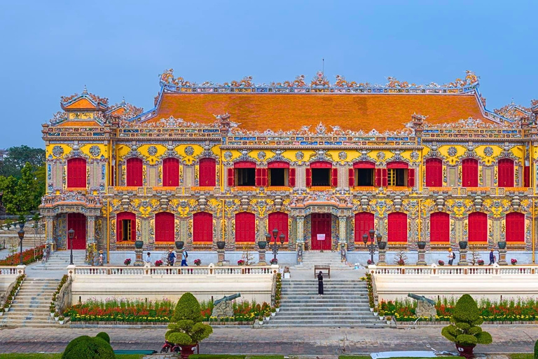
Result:
<svg viewBox="0 0 538 359"><path fill-rule="evenodd" d="M472 358L476 344L491 344L490 333L483 332L479 326L483 323L480 310L469 294L464 294L454 307L450 325L443 327L441 334L456 344L460 356Z"/></svg>

